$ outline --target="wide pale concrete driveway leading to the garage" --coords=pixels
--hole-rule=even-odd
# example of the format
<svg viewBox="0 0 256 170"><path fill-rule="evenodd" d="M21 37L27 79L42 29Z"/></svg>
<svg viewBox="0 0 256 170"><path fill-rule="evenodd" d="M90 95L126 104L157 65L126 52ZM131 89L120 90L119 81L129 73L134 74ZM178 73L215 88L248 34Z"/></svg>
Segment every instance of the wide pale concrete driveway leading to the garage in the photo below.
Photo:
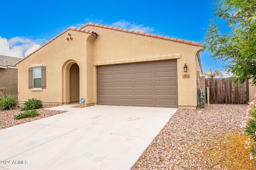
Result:
<svg viewBox="0 0 256 170"><path fill-rule="evenodd" d="M6 160L0 170L128 170L177 111L101 105L52 109L70 111L0 130L0 161Z"/></svg>

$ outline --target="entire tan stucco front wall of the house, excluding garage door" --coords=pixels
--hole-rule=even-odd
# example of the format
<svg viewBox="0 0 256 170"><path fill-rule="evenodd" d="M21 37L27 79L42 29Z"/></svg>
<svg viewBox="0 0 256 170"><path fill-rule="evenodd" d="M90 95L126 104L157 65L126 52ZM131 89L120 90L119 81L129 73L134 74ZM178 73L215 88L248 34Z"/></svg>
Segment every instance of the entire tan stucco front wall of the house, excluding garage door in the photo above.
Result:
<svg viewBox="0 0 256 170"><path fill-rule="evenodd" d="M85 29L98 32L98 37L68 31L17 64L22 101L34 97L43 102L69 102L69 91L65 89L69 90L67 70L72 63L68 60L76 61L80 68L80 98L86 100L85 104L95 104L97 65L177 59L178 105L196 108L196 54L201 47L91 25ZM68 33L72 34L72 41L66 40ZM183 70L185 63L188 72ZM46 89L39 92L28 89L28 68L36 64L46 66L47 74ZM190 74L190 78L182 78L182 74Z"/></svg>

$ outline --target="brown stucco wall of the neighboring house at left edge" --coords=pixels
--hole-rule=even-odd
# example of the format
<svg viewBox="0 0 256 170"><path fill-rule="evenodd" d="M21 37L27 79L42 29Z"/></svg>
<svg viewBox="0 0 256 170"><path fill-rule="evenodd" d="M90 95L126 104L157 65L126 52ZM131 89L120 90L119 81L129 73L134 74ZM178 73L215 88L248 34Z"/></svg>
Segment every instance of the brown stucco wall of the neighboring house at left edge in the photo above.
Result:
<svg viewBox="0 0 256 170"><path fill-rule="evenodd" d="M0 88L4 88L5 94L17 94L18 69L0 68Z"/></svg>

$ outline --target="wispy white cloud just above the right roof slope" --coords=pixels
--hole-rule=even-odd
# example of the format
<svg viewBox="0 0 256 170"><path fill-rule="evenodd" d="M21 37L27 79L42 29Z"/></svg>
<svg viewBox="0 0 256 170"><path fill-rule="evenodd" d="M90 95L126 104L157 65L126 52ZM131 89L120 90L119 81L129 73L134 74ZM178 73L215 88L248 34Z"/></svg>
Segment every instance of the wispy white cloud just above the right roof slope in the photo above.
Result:
<svg viewBox="0 0 256 170"><path fill-rule="evenodd" d="M121 27L121 28L125 28L125 29L132 29L135 31L142 31L142 32L153 32L154 28L150 27L150 26L144 26L143 24L137 24L131 21L125 21L125 20L120 20L120 21L116 21L114 23L111 24L111 26L114 27Z"/></svg>

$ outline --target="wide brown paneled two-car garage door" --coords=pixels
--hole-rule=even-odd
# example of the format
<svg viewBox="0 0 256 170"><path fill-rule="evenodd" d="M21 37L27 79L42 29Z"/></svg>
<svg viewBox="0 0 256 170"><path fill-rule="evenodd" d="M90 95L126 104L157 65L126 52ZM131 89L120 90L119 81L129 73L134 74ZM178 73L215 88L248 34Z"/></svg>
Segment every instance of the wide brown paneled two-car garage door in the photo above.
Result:
<svg viewBox="0 0 256 170"><path fill-rule="evenodd" d="M100 105L178 107L177 60L97 67Z"/></svg>

